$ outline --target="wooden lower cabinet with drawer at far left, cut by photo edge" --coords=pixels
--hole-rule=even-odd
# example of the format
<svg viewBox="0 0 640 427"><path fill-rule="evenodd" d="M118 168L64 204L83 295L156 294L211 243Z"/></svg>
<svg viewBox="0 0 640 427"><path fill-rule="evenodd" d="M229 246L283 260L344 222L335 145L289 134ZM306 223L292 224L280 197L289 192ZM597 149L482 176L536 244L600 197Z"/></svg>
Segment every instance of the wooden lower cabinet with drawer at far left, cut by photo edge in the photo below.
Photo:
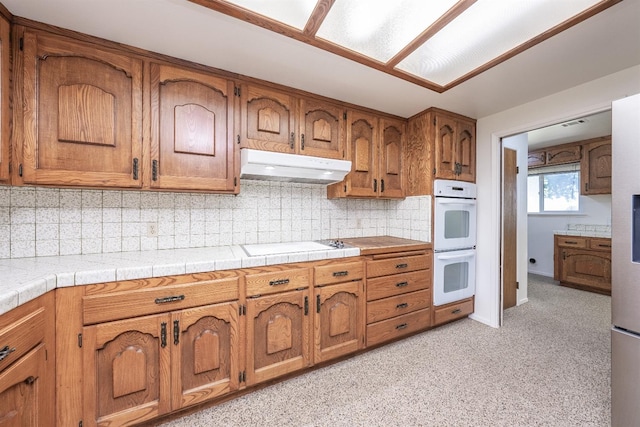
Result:
<svg viewBox="0 0 640 427"><path fill-rule="evenodd" d="M0 426L50 425L55 414L53 294L0 316Z"/></svg>

